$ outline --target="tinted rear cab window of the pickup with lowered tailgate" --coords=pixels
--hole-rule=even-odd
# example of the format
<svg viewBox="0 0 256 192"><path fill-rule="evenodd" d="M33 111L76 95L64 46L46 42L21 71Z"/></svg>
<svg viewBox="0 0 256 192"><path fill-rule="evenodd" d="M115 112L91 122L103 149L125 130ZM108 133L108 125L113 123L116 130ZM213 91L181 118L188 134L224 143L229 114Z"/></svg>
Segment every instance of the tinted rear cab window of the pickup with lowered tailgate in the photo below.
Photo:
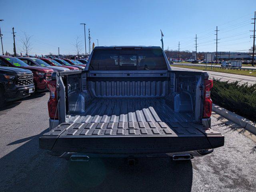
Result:
<svg viewBox="0 0 256 192"><path fill-rule="evenodd" d="M90 70L167 70L161 49L94 50Z"/></svg>

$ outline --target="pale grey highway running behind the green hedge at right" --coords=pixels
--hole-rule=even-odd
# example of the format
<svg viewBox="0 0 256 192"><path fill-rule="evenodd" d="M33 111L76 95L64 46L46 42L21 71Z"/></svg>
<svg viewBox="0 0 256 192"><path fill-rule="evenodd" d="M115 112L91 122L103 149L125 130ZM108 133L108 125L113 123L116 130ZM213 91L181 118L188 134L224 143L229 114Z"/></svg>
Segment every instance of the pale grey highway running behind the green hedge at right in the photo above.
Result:
<svg viewBox="0 0 256 192"><path fill-rule="evenodd" d="M190 68L181 68L181 67L174 67L171 66L172 70L182 70L182 71L202 71L198 69L190 69ZM255 84L256 77L254 76L247 76L247 75L238 75L238 74L231 74L231 73L222 73L222 72L213 72L210 70L204 70L208 72L210 78L220 79L221 81L240 81L240 84L247 83L248 84Z"/></svg>

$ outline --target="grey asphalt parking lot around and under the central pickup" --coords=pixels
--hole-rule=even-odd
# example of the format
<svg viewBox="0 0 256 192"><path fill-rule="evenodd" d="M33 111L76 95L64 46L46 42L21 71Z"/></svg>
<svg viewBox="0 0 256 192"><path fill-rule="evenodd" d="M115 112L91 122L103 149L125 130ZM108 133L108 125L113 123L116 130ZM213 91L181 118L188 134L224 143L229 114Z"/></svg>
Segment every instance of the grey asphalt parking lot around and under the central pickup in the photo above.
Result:
<svg viewBox="0 0 256 192"><path fill-rule="evenodd" d="M0 191L255 191L256 142L232 122L212 117L224 147L188 162L167 158L98 159L71 164L39 149L48 131L49 93L8 103L0 109Z"/></svg>

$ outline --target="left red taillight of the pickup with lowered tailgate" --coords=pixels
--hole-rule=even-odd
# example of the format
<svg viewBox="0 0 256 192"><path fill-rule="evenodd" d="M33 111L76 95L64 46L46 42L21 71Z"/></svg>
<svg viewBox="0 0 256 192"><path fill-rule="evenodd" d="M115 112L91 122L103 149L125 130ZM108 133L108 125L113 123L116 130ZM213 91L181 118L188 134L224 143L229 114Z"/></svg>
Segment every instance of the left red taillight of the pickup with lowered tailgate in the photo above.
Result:
<svg viewBox="0 0 256 192"><path fill-rule="evenodd" d="M48 82L47 88L50 90L50 99L48 100L49 117L51 119L58 119L56 80Z"/></svg>

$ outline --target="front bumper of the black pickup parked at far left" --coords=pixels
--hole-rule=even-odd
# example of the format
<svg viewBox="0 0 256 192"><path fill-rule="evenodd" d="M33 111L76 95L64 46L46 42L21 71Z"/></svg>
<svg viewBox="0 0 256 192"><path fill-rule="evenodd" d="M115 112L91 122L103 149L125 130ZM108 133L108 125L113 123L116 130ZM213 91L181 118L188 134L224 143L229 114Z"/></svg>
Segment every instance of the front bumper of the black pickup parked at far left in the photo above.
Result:
<svg viewBox="0 0 256 192"><path fill-rule="evenodd" d="M6 101L14 101L27 96L30 96L29 90L32 89L32 93L35 91L34 84L22 87L16 87L15 90L6 90L5 98Z"/></svg>

